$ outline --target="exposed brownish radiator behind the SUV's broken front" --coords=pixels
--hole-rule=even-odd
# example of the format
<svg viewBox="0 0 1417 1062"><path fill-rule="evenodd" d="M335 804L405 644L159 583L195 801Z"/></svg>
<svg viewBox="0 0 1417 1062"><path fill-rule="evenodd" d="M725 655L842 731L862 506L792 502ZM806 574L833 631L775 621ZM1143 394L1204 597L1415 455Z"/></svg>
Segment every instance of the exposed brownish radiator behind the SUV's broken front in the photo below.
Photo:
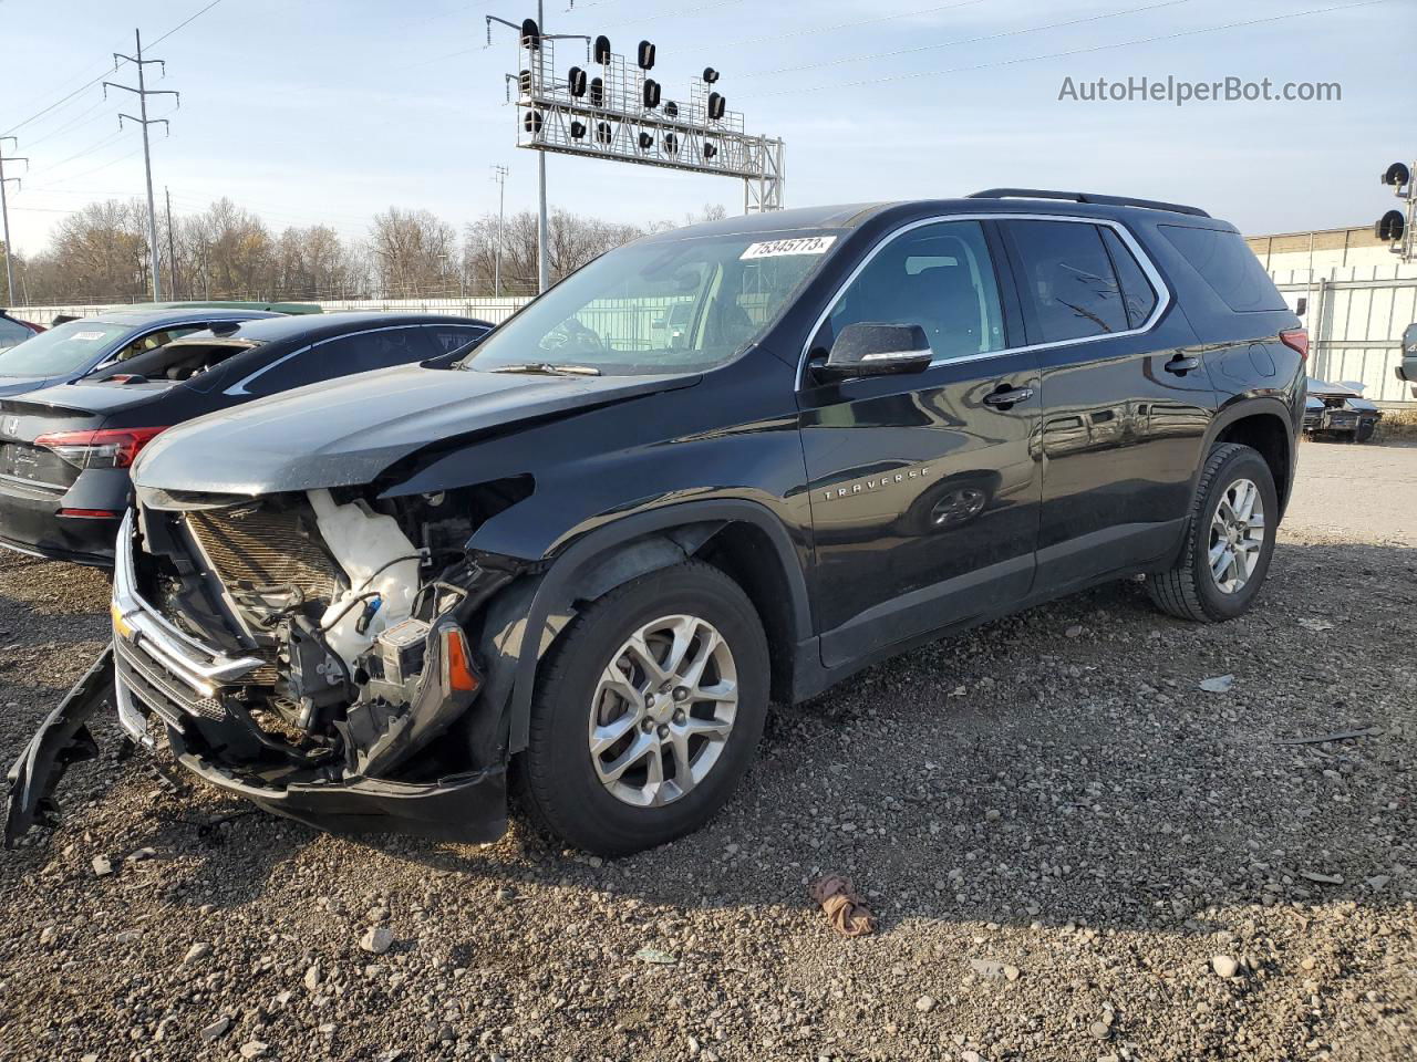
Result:
<svg viewBox="0 0 1417 1062"><path fill-rule="evenodd" d="M187 514L187 527L228 590L289 586L306 600L339 592L339 565L295 510L197 510Z"/></svg>

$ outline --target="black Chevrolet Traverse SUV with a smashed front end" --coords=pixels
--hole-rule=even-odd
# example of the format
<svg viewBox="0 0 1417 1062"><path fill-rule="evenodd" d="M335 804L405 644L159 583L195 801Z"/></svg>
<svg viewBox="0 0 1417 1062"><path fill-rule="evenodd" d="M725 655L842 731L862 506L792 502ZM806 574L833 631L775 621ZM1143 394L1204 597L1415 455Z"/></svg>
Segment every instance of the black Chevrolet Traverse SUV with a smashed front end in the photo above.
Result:
<svg viewBox="0 0 1417 1062"><path fill-rule="evenodd" d="M1189 207L993 190L645 238L458 364L153 442L112 658L16 765L10 833L112 701L324 828L487 841L510 777L575 845L660 844L769 700L1107 579L1244 612L1305 351Z"/></svg>

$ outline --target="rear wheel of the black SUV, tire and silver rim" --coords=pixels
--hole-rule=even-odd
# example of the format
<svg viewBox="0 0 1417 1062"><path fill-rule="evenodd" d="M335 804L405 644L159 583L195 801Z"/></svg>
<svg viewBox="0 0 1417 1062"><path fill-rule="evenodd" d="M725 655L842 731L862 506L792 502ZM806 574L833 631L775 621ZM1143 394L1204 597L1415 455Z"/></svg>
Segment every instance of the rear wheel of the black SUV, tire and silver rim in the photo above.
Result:
<svg viewBox="0 0 1417 1062"><path fill-rule="evenodd" d="M1278 493L1264 457L1238 443L1214 447L1196 484L1180 559L1170 571L1146 576L1152 602L1197 623L1244 613L1270 571L1278 517Z"/></svg>

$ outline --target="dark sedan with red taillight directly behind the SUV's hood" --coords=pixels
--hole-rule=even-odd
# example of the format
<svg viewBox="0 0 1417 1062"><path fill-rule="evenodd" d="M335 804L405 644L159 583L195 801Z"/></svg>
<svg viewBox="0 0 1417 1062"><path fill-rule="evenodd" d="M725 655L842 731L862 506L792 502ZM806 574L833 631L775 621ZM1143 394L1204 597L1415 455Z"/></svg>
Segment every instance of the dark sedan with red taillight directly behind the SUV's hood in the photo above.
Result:
<svg viewBox="0 0 1417 1062"><path fill-rule="evenodd" d="M129 467L166 428L262 395L428 361L490 329L438 314L230 321L85 379L0 401L0 545L108 566L129 506Z"/></svg>

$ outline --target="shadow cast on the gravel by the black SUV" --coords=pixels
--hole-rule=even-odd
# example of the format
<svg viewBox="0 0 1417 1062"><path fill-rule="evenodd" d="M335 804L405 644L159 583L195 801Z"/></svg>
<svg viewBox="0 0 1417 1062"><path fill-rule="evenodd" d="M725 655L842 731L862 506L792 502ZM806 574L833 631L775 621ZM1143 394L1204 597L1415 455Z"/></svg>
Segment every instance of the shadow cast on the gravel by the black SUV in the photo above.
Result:
<svg viewBox="0 0 1417 1062"><path fill-rule="evenodd" d="M1410 800L1396 749L1417 736L1411 673L1397 654L1355 657L1336 632L1406 630L1414 612L1417 551L1294 544L1227 624L1162 616L1135 582L1040 606L778 708L714 821L622 860L563 852L523 826L480 848L329 838L264 813L211 827L249 809L200 783L153 797L136 760L88 767L98 809L38 847L128 823L113 844L170 861L171 902L218 908L288 886L312 845L322 865L377 865L393 892L434 871L666 909L806 910L805 881L840 872L884 932L911 919L1179 929L1217 905L1401 903L1393 865L1417 852L1389 809ZM1227 691L1199 688L1223 675ZM1315 741L1353 731L1370 732ZM140 800L152 811L133 828ZM44 858L0 860L0 881Z"/></svg>

